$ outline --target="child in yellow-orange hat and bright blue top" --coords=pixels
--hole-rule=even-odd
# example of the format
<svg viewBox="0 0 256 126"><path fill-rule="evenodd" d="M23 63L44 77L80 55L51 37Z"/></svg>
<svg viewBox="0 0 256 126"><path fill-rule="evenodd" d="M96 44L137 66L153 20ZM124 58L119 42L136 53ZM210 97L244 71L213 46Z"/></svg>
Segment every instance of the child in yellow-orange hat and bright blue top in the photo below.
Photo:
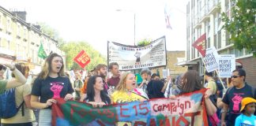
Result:
<svg viewBox="0 0 256 126"><path fill-rule="evenodd" d="M243 98L241 102L241 109L240 112L242 114L235 119L235 126L247 125L247 126L254 126L256 125L256 116L254 116L255 112L255 103L256 100L254 98Z"/></svg>

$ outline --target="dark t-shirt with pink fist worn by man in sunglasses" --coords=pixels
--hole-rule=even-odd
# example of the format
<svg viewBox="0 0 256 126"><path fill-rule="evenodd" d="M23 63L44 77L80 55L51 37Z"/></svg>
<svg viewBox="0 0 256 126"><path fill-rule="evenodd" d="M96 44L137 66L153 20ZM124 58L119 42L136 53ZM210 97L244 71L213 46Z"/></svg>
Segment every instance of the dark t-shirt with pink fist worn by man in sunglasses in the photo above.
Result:
<svg viewBox="0 0 256 126"><path fill-rule="evenodd" d="M254 98L250 85L245 83L245 86L241 89L231 87L230 91L227 91L222 99L222 102L228 105L228 124L234 125L235 118L239 116L241 109L241 101L243 98ZM255 93L254 93L255 94Z"/></svg>

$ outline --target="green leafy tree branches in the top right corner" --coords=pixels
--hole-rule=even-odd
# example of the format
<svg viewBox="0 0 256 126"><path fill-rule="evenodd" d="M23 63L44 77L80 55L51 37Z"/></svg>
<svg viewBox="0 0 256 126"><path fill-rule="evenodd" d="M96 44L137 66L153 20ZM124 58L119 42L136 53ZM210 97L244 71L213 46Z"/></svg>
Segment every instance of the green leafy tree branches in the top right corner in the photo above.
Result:
<svg viewBox="0 0 256 126"><path fill-rule="evenodd" d="M256 1L255 0L232 0L232 17L222 13L224 28L230 33L231 43L235 49L249 50L256 57Z"/></svg>

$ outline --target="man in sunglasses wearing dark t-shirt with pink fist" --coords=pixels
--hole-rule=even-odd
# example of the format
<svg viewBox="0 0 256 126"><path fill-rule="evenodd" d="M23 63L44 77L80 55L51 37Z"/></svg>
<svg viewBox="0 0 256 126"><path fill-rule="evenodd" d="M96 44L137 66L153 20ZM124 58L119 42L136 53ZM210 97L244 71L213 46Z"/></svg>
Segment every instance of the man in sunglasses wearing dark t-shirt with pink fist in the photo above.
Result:
<svg viewBox="0 0 256 126"><path fill-rule="evenodd" d="M222 102L224 102L224 106L221 114L221 126L235 125L235 118L239 116L241 109L241 101L245 97L254 98L255 91L253 87L250 87L245 82L246 72L243 69L235 69L232 72L232 83L234 87L230 87ZM227 124L225 123L225 117L228 113Z"/></svg>

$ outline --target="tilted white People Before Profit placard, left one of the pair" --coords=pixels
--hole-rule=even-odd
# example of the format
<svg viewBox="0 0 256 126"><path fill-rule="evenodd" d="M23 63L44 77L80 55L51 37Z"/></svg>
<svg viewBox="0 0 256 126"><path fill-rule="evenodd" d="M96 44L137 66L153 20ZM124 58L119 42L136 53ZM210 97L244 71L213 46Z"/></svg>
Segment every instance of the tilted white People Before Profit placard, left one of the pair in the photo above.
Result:
<svg viewBox="0 0 256 126"><path fill-rule="evenodd" d="M213 72L214 70L218 69L218 53L214 46L206 49L206 54L203 60L205 61L205 68L207 72Z"/></svg>

